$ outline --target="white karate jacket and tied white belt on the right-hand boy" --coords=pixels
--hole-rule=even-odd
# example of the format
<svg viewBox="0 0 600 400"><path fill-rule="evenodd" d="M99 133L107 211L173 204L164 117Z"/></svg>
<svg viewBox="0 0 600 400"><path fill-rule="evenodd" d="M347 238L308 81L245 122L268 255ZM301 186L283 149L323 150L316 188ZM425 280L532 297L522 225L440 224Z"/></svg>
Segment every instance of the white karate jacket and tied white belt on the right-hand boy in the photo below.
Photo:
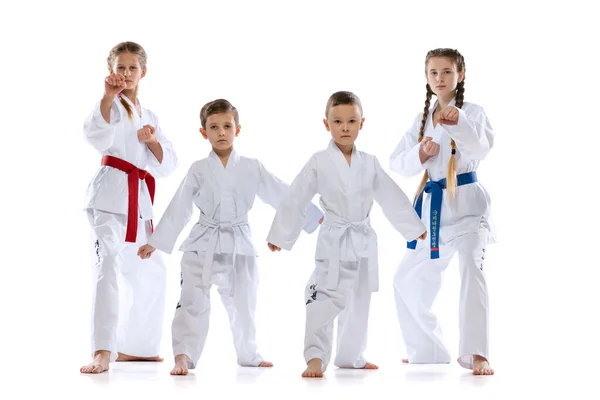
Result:
<svg viewBox="0 0 600 400"><path fill-rule="evenodd" d="M315 153L298 174L279 206L267 241L291 250L300 234L306 204L320 194L325 221L319 229L316 260L358 261L370 259L369 287L379 288L377 279L377 235L369 226L376 200L384 215L406 240L425 232L410 200L381 168L373 155L352 151L348 165L332 140L327 149Z"/></svg>

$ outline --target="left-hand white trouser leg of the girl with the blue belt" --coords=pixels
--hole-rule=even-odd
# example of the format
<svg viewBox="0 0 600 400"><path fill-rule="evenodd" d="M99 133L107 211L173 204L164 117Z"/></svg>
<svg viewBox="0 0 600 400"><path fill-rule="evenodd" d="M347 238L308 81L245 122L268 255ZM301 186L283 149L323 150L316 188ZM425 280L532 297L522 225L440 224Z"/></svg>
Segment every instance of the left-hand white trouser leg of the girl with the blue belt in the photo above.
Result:
<svg viewBox="0 0 600 400"><path fill-rule="evenodd" d="M396 310L410 363L451 360L431 308L453 254L450 248L441 247L440 258L431 259L428 245L418 242L415 250L406 250L394 276Z"/></svg>

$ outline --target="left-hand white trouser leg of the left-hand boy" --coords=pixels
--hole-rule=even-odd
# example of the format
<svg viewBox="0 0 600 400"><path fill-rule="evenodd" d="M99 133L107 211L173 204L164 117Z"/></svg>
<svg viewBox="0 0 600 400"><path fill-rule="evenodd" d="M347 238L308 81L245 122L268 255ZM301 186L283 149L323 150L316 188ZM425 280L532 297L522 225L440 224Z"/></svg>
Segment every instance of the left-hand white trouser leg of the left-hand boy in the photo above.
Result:
<svg viewBox="0 0 600 400"><path fill-rule="evenodd" d="M196 368L208 336L210 287L202 284L203 261L197 252L183 254L181 295L171 324L173 354L185 354L190 369Z"/></svg>

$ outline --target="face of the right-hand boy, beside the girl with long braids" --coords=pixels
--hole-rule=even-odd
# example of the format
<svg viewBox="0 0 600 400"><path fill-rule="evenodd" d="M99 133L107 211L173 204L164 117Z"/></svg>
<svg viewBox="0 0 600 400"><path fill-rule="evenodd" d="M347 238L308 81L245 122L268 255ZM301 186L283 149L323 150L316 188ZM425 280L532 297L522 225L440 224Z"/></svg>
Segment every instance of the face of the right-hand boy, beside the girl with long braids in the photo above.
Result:
<svg viewBox="0 0 600 400"><path fill-rule="evenodd" d="M323 120L334 142L341 146L354 144L364 122L365 119L356 104L331 107L327 119Z"/></svg>

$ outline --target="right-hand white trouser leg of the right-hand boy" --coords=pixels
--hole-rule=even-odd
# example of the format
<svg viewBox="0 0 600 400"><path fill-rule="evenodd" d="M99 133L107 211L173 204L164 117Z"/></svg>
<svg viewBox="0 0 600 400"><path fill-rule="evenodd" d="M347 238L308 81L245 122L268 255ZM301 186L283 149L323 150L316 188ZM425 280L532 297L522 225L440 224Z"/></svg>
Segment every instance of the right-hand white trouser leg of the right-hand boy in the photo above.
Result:
<svg viewBox="0 0 600 400"><path fill-rule="evenodd" d="M371 305L367 259L361 260L358 279L347 289L346 296L347 306L338 317L334 364L340 368L363 368L367 363L363 353L367 347Z"/></svg>

